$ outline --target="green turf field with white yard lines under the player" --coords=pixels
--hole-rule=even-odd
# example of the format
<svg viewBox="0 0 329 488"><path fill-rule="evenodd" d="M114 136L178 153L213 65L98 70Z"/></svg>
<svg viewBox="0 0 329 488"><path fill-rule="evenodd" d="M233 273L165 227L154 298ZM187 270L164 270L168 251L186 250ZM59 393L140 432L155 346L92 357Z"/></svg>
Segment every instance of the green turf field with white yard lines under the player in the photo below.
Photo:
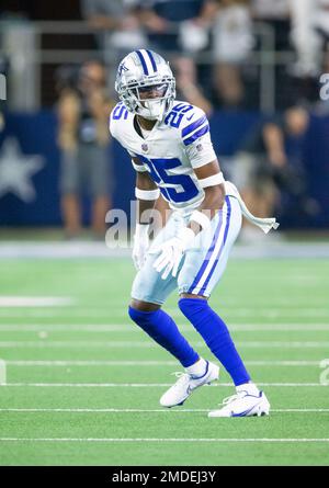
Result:
<svg viewBox="0 0 329 488"><path fill-rule="evenodd" d="M183 407L160 408L180 366L126 316L129 260L0 269L2 297L71 299L0 306L1 465L329 465L328 260L229 263L211 303L272 405L245 419L206 416L234 393L225 372ZM212 359L175 300L166 309Z"/></svg>

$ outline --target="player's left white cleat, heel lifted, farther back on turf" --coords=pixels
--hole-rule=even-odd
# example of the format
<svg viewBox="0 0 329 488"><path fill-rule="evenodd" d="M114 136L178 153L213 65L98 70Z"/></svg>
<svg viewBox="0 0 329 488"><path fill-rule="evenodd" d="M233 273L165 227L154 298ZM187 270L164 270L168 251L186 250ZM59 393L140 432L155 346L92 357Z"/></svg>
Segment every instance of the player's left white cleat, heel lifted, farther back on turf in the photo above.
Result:
<svg viewBox="0 0 329 488"><path fill-rule="evenodd" d="M205 384L209 385L219 376L219 366L206 362L206 371L202 376L192 376L189 373L174 373L179 378L160 398L162 407L177 407L183 405L192 391Z"/></svg>

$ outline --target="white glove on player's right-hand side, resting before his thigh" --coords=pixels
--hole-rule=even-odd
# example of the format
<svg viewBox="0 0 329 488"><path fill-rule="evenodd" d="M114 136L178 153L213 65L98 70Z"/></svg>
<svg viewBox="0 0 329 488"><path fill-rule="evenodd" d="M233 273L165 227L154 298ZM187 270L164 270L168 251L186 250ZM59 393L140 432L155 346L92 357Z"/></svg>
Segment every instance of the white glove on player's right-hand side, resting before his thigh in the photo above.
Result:
<svg viewBox="0 0 329 488"><path fill-rule="evenodd" d="M158 250L161 251L159 258L155 261L154 268L161 273L161 279L166 280L170 272L173 277L177 276L179 265L184 256L189 243L194 239L195 234L189 227L180 229L177 237L163 242Z"/></svg>

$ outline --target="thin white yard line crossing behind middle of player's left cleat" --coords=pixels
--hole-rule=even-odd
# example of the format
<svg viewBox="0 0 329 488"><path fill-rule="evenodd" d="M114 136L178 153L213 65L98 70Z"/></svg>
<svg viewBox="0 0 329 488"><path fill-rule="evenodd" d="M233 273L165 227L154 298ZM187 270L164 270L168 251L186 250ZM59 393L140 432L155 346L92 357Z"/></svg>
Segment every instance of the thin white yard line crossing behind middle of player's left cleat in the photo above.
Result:
<svg viewBox="0 0 329 488"><path fill-rule="evenodd" d="M321 385L320 383L258 383L259 386L295 386L295 387L321 387L326 388L329 385ZM78 387L78 388L154 388L154 387L166 387L172 386L172 383L7 383L2 385L2 388L5 387ZM232 383L217 383L212 384L209 387L223 387L223 386L234 386Z"/></svg>

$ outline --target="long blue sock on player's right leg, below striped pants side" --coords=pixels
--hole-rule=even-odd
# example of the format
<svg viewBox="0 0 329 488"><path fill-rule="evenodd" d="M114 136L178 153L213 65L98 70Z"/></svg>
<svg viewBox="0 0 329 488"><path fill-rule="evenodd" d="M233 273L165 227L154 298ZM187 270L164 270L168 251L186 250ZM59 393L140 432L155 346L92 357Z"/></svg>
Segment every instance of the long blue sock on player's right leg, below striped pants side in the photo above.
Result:
<svg viewBox="0 0 329 488"><path fill-rule="evenodd" d="M250 381L229 331L220 317L205 299L181 298L179 307L197 332L203 337L213 354L220 361L236 386Z"/></svg>

